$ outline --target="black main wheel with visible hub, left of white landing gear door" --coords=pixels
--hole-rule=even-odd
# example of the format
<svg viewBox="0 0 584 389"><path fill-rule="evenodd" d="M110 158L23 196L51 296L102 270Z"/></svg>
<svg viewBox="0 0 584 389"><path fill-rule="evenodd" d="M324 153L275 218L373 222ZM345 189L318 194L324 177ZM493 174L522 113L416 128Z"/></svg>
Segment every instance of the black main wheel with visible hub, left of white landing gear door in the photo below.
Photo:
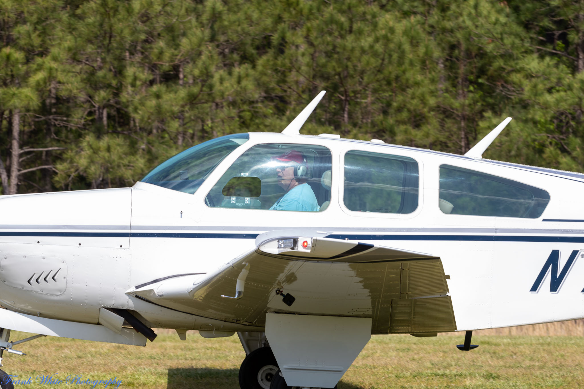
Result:
<svg viewBox="0 0 584 389"><path fill-rule="evenodd" d="M260 347L249 353L239 367L241 389L269 389L276 372L279 372L276 357L270 347Z"/></svg>

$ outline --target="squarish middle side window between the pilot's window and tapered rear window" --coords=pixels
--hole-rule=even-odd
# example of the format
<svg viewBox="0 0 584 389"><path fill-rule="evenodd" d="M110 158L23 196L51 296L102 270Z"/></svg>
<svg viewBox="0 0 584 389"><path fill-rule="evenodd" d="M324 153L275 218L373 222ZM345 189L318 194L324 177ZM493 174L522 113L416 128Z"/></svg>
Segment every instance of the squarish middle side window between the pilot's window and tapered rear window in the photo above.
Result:
<svg viewBox="0 0 584 389"><path fill-rule="evenodd" d="M411 213L418 208L418 162L351 150L345 154L345 206L351 211Z"/></svg>

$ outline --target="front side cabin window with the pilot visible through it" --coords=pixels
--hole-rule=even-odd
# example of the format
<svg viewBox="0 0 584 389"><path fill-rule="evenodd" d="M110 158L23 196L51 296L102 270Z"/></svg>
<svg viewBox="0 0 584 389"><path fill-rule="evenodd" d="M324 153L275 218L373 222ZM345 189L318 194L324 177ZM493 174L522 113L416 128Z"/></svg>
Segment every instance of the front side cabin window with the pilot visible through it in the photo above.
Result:
<svg viewBox="0 0 584 389"><path fill-rule="evenodd" d="M211 189L214 208L324 211L331 199L331 151L317 145L263 144L243 153Z"/></svg>

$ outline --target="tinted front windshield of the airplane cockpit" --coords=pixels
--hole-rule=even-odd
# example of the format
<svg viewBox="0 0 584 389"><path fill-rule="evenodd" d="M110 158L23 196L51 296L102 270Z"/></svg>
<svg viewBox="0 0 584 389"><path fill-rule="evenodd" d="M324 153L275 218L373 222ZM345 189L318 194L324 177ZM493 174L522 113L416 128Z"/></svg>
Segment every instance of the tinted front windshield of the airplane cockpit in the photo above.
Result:
<svg viewBox="0 0 584 389"><path fill-rule="evenodd" d="M163 162L141 181L194 194L215 167L248 139L248 134L234 134L199 143Z"/></svg>

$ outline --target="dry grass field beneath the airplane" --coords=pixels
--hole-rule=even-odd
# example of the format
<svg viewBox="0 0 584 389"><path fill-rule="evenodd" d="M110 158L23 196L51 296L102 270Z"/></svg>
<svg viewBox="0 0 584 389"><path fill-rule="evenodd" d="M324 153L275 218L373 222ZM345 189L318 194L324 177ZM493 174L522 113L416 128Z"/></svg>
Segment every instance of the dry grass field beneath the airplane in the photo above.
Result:
<svg viewBox="0 0 584 389"><path fill-rule="evenodd" d="M237 336L186 341L169 331L146 347L46 337L15 346L27 356L5 353L4 369L32 384L15 387L89 388L91 384L34 384L37 376L117 377L120 388L237 389L245 354ZM13 332L17 340L27 334ZM584 338L476 334L480 345L461 352L464 333L435 338L374 335L339 383L339 389L373 388L583 388ZM15 378L17 379L17 378ZM98 384L96 388L105 388ZM115 386L109 386L112 388Z"/></svg>

